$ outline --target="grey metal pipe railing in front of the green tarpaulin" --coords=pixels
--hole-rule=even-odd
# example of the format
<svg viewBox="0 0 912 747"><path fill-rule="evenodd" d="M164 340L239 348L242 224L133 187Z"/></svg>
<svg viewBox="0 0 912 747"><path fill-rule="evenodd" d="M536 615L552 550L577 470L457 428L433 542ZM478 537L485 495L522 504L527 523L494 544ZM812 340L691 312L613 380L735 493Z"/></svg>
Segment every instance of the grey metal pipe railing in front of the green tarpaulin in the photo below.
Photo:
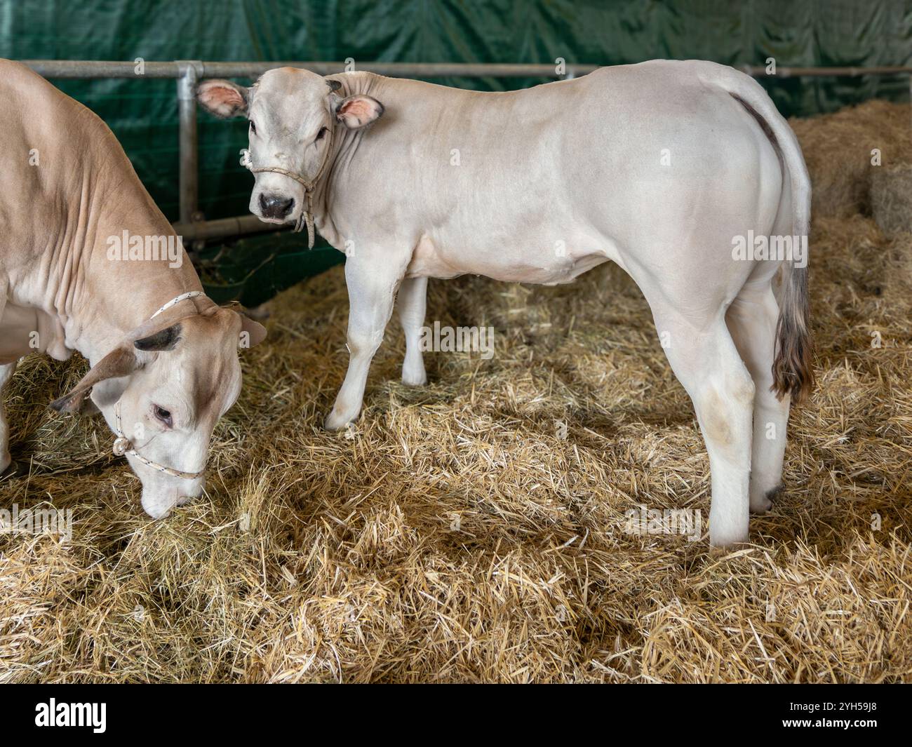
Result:
<svg viewBox="0 0 912 747"><path fill-rule="evenodd" d="M197 83L202 78L258 78L275 67L306 67L319 75L340 73L351 67L343 62L105 62L93 60L26 59L22 62L44 78L173 78L177 80L179 121L180 220L174 231L187 241L202 241L243 233L281 230L284 226L263 223L255 215L215 221L203 220L199 212L199 156L196 133ZM391 78L577 78L596 70L597 65L486 65L463 63L373 62L359 70ZM777 67L775 75L756 65L739 67L753 78L857 78L861 76L908 75L912 98L912 67Z"/></svg>

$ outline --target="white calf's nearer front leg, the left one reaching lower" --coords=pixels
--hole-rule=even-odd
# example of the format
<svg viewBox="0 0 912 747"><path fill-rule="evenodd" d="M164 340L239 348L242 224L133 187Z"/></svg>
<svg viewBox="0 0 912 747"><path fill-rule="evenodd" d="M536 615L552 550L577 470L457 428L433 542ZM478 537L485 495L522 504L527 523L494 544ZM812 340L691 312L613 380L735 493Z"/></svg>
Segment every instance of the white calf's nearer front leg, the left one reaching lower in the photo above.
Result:
<svg viewBox="0 0 912 747"><path fill-rule="evenodd" d="M348 285L348 370L332 412L326 417L326 429L338 431L358 419L368 369L374 353L383 341L383 332L392 314L399 283L405 275L405 263L390 261L389 256L359 254L349 257L345 265Z"/></svg>

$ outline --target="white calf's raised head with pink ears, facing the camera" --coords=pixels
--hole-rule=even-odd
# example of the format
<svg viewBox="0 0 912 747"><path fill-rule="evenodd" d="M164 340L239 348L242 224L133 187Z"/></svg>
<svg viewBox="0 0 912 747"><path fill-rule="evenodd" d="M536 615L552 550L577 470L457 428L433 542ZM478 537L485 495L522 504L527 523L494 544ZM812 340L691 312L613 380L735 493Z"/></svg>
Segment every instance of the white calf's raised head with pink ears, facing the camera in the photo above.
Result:
<svg viewBox="0 0 912 747"><path fill-rule="evenodd" d="M383 105L363 94L343 97L341 83L297 67L264 73L251 88L229 80L205 80L197 88L203 109L250 121L254 168L289 171L304 182L328 171L340 130L358 130L383 114ZM322 174L321 174L322 171ZM306 208L305 187L287 174L254 172L250 212L267 223L296 223Z"/></svg>

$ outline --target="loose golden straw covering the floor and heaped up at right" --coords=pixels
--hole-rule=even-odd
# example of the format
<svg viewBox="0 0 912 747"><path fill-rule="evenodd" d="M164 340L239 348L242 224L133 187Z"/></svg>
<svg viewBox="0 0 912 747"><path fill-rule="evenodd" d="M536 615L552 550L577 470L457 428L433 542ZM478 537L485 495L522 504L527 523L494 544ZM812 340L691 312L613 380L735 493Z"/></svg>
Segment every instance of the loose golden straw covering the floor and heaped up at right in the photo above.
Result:
<svg viewBox="0 0 912 747"><path fill-rule="evenodd" d="M75 525L0 535L0 680L910 679L912 234L862 214L855 164L908 117L871 102L796 123L839 209L811 243L818 389L750 546L625 532L639 505L705 520L709 465L616 267L432 281L429 324L494 327L494 357L429 354L430 386L403 387L394 322L340 434L320 428L347 363L336 268L275 300L207 496L164 521L99 420L47 409L84 362L21 364L5 403L30 474L2 505Z"/></svg>

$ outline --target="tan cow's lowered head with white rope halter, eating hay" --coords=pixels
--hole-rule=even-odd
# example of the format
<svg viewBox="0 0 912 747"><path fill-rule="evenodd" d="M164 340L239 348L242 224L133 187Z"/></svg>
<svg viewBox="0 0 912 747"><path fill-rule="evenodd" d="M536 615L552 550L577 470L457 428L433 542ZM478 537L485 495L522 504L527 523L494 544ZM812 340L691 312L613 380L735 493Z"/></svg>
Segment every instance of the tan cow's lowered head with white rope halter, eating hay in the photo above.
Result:
<svg viewBox="0 0 912 747"><path fill-rule="evenodd" d="M52 403L75 412L91 401L111 431L130 441L127 453L142 482L142 507L153 518L202 493L212 429L241 391L237 349L265 337L261 325L207 298L183 301L124 337L76 387ZM119 419L118 419L119 415Z"/></svg>

